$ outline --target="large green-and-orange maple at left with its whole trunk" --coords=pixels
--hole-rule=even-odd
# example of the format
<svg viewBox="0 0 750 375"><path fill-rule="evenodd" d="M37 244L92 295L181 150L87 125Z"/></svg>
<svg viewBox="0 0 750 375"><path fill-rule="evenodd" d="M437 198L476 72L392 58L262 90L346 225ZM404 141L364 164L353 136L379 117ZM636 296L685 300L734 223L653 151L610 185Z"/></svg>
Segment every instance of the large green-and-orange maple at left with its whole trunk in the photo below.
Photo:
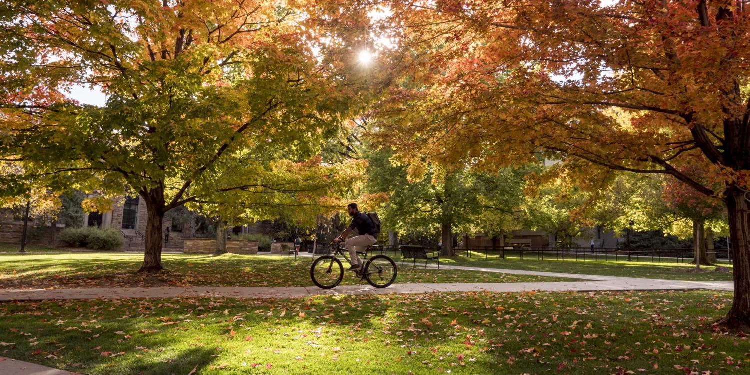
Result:
<svg viewBox="0 0 750 375"><path fill-rule="evenodd" d="M163 269L164 214L208 199L200 186L217 166L305 160L368 101L377 72L353 62L366 13L311 4L3 1L0 158L26 168L3 193L33 177L137 194L148 208L141 270ZM68 99L77 85L107 104Z"/></svg>

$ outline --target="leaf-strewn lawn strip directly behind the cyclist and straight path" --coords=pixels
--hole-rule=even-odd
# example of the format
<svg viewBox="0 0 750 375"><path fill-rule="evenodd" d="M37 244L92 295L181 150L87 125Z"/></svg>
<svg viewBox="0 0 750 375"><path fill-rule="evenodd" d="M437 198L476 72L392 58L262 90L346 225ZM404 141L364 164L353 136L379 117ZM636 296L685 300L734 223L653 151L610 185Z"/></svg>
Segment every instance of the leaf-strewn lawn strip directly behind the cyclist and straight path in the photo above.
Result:
<svg viewBox="0 0 750 375"><path fill-rule="evenodd" d="M0 255L0 289L86 287L310 287L311 258L163 254L166 272L137 272L142 254L58 253ZM577 281L490 272L399 266L404 283L517 283ZM342 285L366 284L347 272Z"/></svg>

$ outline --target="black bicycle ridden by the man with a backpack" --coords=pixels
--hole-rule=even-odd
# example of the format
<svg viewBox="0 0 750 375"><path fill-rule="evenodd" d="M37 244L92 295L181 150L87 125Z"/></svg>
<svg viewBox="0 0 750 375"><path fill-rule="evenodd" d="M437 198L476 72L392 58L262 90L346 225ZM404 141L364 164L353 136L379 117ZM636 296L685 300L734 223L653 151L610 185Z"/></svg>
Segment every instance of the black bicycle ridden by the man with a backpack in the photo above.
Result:
<svg viewBox="0 0 750 375"><path fill-rule="evenodd" d="M344 257L347 262L350 262L346 252L344 252L337 242L332 242L329 245L331 249L331 255L324 255L313 262L313 266L310 268L310 277L313 279L313 283L320 289L333 289L341 284L344 280L344 265L338 257ZM356 275L359 280L367 280L370 285L375 288L387 288L390 287L396 281L398 276L398 268L396 263L387 255L376 255L368 260L368 253L371 247L368 246L368 250L365 253L357 251L357 254L362 257L362 261L365 262L365 266L362 269L356 271Z"/></svg>

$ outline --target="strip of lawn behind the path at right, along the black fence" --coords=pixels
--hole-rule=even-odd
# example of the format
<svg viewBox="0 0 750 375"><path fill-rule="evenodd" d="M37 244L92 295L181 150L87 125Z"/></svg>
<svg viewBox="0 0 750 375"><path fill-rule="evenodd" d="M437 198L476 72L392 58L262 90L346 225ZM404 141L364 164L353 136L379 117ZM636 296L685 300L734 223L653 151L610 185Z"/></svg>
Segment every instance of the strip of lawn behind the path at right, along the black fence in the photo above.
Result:
<svg viewBox="0 0 750 375"><path fill-rule="evenodd" d="M460 254L466 254L462 252ZM693 272L695 266L684 263L646 263L646 262L582 262L574 260L537 260L534 257L499 259L490 254L485 260L484 254L472 254L471 258L459 255L455 258L440 260L441 264L451 266L487 267L493 269L523 269L527 271L561 272L578 275L620 276L625 278L652 278L687 281L732 281L731 272L715 272L715 267L706 267L703 272ZM732 266L722 264L732 269Z"/></svg>

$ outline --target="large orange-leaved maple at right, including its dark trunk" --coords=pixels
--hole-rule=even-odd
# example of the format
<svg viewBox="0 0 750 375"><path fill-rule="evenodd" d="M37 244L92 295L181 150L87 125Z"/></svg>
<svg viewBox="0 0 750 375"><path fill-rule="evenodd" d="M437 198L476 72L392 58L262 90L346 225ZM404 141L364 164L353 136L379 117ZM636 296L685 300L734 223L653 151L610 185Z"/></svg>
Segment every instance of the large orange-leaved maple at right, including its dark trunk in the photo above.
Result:
<svg viewBox="0 0 750 375"><path fill-rule="evenodd" d="M721 324L750 331L746 1L388 5L383 30L410 49L413 69L378 108L392 124L383 142L413 163L496 169L541 152L590 190L619 170L720 197L735 262ZM705 184L680 172L688 165Z"/></svg>

